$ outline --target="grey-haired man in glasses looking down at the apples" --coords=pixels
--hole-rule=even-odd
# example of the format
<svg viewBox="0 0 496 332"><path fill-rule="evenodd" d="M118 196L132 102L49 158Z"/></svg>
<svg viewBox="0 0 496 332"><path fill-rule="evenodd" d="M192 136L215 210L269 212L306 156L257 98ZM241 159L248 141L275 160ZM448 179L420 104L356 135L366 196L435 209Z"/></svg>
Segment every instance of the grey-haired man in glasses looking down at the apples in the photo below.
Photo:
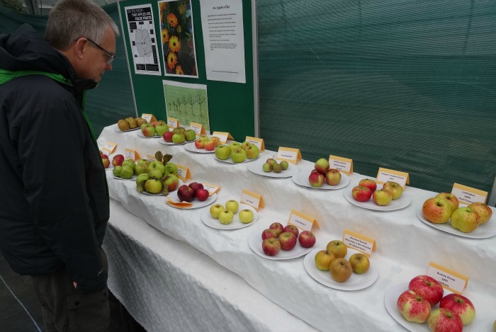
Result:
<svg viewBox="0 0 496 332"><path fill-rule="evenodd" d="M89 0L60 0L45 40L0 34L0 249L32 275L45 331L106 331L101 249L108 187L85 91L112 69L118 28Z"/></svg>

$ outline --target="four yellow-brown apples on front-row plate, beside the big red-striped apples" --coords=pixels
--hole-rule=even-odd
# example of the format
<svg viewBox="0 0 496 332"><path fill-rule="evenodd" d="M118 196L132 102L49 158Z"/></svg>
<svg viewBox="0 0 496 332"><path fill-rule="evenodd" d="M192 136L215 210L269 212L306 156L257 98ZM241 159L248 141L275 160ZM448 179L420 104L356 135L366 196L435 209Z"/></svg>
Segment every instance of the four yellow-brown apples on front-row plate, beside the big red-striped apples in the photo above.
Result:
<svg viewBox="0 0 496 332"><path fill-rule="evenodd" d="M345 282L351 273L363 274L371 267L371 262L363 253L354 253L346 260L348 248L340 240L329 241L325 250L315 253L315 266L329 271L334 281Z"/></svg>

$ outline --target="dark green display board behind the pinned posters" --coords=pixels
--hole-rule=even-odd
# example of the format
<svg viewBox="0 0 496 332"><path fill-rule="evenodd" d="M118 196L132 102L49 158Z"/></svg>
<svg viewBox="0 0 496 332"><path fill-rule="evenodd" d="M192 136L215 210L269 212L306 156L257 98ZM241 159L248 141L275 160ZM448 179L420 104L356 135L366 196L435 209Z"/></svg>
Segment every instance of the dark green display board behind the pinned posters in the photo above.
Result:
<svg viewBox="0 0 496 332"><path fill-rule="evenodd" d="M164 68L164 50L162 48L160 35L160 8L157 1L131 0L119 3L120 19L123 23L123 35L127 45L128 63L130 66L130 76L133 84L135 103L138 115L142 113L153 114L159 120L166 118L166 101L164 97L163 81L174 81L182 84L199 84L206 86L208 99L208 119L210 123L210 132L230 132L232 137L237 140L243 140L244 137L254 136L258 131L256 123L257 103L254 102L255 89L257 82L254 79L254 36L252 30L252 2L249 0L242 1L242 23L244 26L244 64L246 73L246 83L233 83L228 81L211 81L207 79L205 70L205 52L203 45L203 30L201 23L201 4L200 0L191 0L192 25L193 25L193 42L196 49L196 74L194 76L166 76ZM147 26L147 32L140 33L145 35L150 33L147 42L157 47L159 73L155 74L136 74L133 68L133 49L132 40L128 29L128 16L125 8L133 6L148 5L152 8L153 25ZM149 22L147 22L148 24ZM154 37L157 36L157 37ZM136 37L134 36L136 39ZM153 39L155 38L155 40ZM152 50L150 50L152 52ZM167 56L167 55L166 55ZM143 67L145 68L145 67ZM152 68L152 67L150 67ZM151 69L155 70L155 69ZM188 126L189 123L180 125Z"/></svg>

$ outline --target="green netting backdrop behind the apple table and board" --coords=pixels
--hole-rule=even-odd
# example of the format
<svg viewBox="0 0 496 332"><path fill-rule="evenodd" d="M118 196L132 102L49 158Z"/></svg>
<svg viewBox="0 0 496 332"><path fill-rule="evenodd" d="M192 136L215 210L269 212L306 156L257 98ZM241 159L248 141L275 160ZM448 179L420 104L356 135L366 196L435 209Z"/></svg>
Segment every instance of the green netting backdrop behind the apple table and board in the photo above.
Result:
<svg viewBox="0 0 496 332"><path fill-rule="evenodd" d="M116 4L103 7L116 22ZM0 6L0 32L46 17ZM410 173L410 185L490 192L496 175L496 1L258 0L267 149ZM118 24L120 25L120 23ZM122 34L117 54L124 55ZM135 115L127 62L89 93L97 134Z"/></svg>

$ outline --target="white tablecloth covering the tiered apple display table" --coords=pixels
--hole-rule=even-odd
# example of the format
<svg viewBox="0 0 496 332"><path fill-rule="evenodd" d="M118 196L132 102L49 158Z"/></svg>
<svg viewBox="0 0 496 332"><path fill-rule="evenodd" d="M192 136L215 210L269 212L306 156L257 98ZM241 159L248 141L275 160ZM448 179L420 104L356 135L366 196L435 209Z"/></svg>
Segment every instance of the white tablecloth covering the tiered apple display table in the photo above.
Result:
<svg viewBox="0 0 496 332"><path fill-rule="evenodd" d="M167 237L155 237L154 244L164 241L164 246L168 250L162 254L154 253L154 249L141 249L142 255L154 257L153 265L150 267L149 258L139 259L132 253L123 251L122 255L113 254L109 256L109 261L125 261L125 265L115 265L115 270L111 270L111 280L109 285L113 292L120 294L121 300L126 307L135 307L135 311L130 310L133 316L138 317L145 328L150 331L163 331L163 326L171 324L171 317L165 315L162 308L162 299L167 296L174 296L174 301L170 302L178 307L184 307L190 312L191 302L200 308L208 308L208 299L201 297L195 300L181 299L181 287L176 287L175 278L178 275L193 276L193 279L207 280L208 273L205 270L222 271L222 265L227 270L232 271L242 278L247 284L253 287L250 292L246 290L246 284L237 277L232 278L232 284L239 286L240 290L245 290L249 298L259 297L263 294L266 299L270 299L289 311L291 315L298 317L293 321L298 324L306 324L321 331L338 330L344 331L398 331L402 327L388 314L385 309L384 297L390 287L407 283L415 275L426 273L429 262L438 263L455 270L458 273L469 277L468 287L463 292L471 299L477 310L477 320L487 321L495 319L494 308L496 307L496 285L492 281L496 275L496 241L491 239L467 239L461 236L448 234L419 221L416 211L422 206L424 200L435 195L435 193L407 187L405 197L412 201L408 207L402 210L391 212L377 212L366 210L361 207L351 205L344 198L344 194L351 190L363 176L354 173L350 176L350 183L341 190L315 190L305 188L293 183L291 178L267 178L259 176L247 170L247 164L226 164L215 160L212 154L195 154L184 149L184 145L170 146L159 143L159 139L145 139L139 137L137 132L116 132L113 127L106 127L98 138L98 146L103 147L106 142L118 143L116 153L124 153L125 148L139 151L141 156L147 154L154 155L160 150L164 154L172 154L171 161L176 164L188 167L191 171L193 181L208 182L221 186L218 193L217 202L224 204L227 200L239 200L242 190L252 190L262 195L266 207L259 211L259 221L250 227L233 231L220 231L205 226L201 222L201 214L208 209L203 207L195 210L180 210L166 204L163 197L154 197L137 193L133 181L122 181L113 178L111 171L108 171L108 185L111 197L122 204L125 210L135 214L145 220L159 231L173 239L184 242L181 244ZM265 151L261 159L273 156L274 151ZM305 157L305 156L303 156ZM252 161L254 162L254 161ZM313 163L301 161L298 163L300 171L309 172ZM394 166L388 166L394 168ZM411 179L415 183L415 179ZM320 229L315 231L317 244L315 248L325 248L327 242L332 239L342 239L344 229L351 229L360 234L369 236L376 240L376 252L371 259L374 266L378 268L378 280L363 290L342 291L321 285L312 279L303 266L303 257L287 261L271 261L257 256L248 245L249 236L261 231L272 222L286 224L291 209L298 210L317 219ZM147 248L148 241L144 239L133 239L133 236L126 237L116 233L112 236L113 230L120 229L123 234L137 234L144 224L135 227L135 224L121 225L123 219L114 218L114 213L120 211L120 207L113 207L113 217L109 235L106 239L106 248L116 246L114 242L120 242L123 247ZM490 222L495 222L495 217ZM133 226L131 228L131 226ZM126 229L130 227L130 229ZM112 241L111 239L114 239ZM128 243L130 242L130 243ZM169 242L173 244L169 244ZM180 244L176 246L175 244ZM152 244L152 242L150 242ZM189 247L192 248L189 248ZM186 249L188 248L188 249ZM176 256L186 250L193 252L194 249L204 253L216 263L211 263L209 268L195 271L188 264L187 260L175 261ZM193 255L194 256L194 255ZM147 264L143 264L147 262ZM172 262L172 263L169 263ZM168 269L169 264L175 268L183 269L179 274L164 277L162 272ZM218 265L219 264L219 265ZM158 268L164 265L167 268ZM147 273L147 269L152 271ZM120 273L117 273L120 271ZM162 271L157 273L157 271ZM128 276L122 277L121 275ZM205 273L205 277L203 277ZM227 273L227 272L224 272ZM229 274L229 273L227 273ZM134 280L137 283L150 283L149 287L137 287L137 290L123 290L120 288L120 279ZM129 281L131 282L131 281ZM222 281L223 282L223 281ZM222 285L215 284L215 286ZM124 282L125 284L125 282ZM157 285L157 287L154 287ZM220 296L222 287L216 288L214 285L206 283L203 287L205 292ZM256 291L258 292L256 292ZM220 296L221 297L221 296ZM187 302L187 303L186 303ZM198 302L207 302L198 304ZM206 321L201 331L220 331L218 326L220 321L232 322L237 320L237 307L244 302L243 297L230 297L222 301L222 305L230 310L222 318L215 318ZM283 331L277 325L271 325L271 312L265 305L271 302L264 302L260 305L261 311L256 314L244 316L247 321L252 321L254 326L246 328L247 331L264 330L272 328L274 331ZM146 303L140 311L139 306ZM134 305L136 304L136 305ZM206 309L205 309L206 310ZM198 312L198 311L196 311ZM269 316L263 316L260 312L267 312ZM275 312L275 311L274 311ZM277 311L281 312L281 311ZM288 315L288 316L291 316ZM203 317L203 316L201 316ZM195 320L195 316L188 317ZM283 321L285 319L282 319ZM162 324L162 325L161 325ZM186 326L184 331L198 330L198 321ZM242 324L240 324L242 325ZM260 329L259 329L260 328ZM221 329L222 330L222 329ZM243 331L239 326L225 328L222 331ZM294 326L288 331L305 331L302 326Z"/></svg>

